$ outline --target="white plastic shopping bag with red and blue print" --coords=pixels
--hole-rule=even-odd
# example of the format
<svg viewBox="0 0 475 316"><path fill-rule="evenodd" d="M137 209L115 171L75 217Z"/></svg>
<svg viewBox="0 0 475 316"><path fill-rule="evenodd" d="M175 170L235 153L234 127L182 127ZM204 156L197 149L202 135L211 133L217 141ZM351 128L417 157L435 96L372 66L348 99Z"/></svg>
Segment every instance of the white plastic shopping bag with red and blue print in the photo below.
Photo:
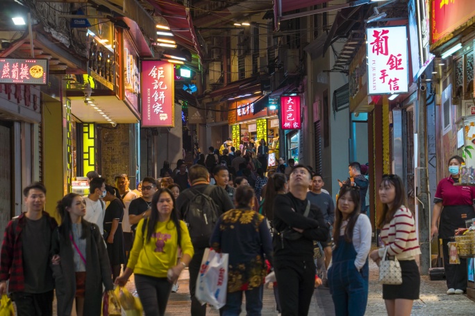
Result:
<svg viewBox="0 0 475 316"><path fill-rule="evenodd" d="M228 258L228 254L206 248L194 293L201 305L210 304L217 309L226 305Z"/></svg>

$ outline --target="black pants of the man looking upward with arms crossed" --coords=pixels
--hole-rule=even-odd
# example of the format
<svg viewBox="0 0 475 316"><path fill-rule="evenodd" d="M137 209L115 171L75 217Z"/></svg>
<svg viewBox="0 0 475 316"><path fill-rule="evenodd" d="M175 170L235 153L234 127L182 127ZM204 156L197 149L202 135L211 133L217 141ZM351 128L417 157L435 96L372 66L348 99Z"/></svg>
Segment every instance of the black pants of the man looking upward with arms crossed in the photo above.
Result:
<svg viewBox="0 0 475 316"><path fill-rule="evenodd" d="M315 288L313 258L274 258L274 271L283 316L306 316ZM285 298L285 299L283 299Z"/></svg>

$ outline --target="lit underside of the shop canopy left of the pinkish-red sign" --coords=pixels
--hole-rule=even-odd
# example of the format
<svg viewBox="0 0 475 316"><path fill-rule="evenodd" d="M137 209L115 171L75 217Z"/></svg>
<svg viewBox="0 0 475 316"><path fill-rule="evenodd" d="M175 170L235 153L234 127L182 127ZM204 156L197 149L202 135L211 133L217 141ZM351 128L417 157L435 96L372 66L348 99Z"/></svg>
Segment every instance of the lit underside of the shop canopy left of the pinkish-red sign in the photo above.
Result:
<svg viewBox="0 0 475 316"><path fill-rule="evenodd" d="M100 114L97 109L94 109L89 103L84 103L83 97L71 97L71 112L76 118L82 122L94 123L138 123L137 117L128 108L124 101L117 99L115 96L93 96L92 99L95 106L102 109L102 112L109 119L107 121L103 114Z"/></svg>

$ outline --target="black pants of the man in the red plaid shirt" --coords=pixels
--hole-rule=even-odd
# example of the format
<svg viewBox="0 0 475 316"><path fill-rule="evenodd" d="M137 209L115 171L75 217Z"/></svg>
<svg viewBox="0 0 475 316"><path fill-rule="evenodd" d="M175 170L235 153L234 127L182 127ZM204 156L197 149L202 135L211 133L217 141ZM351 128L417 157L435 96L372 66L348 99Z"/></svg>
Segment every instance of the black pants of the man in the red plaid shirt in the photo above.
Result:
<svg viewBox="0 0 475 316"><path fill-rule="evenodd" d="M53 290L40 294L13 292L12 299L17 306L18 316L53 315Z"/></svg>

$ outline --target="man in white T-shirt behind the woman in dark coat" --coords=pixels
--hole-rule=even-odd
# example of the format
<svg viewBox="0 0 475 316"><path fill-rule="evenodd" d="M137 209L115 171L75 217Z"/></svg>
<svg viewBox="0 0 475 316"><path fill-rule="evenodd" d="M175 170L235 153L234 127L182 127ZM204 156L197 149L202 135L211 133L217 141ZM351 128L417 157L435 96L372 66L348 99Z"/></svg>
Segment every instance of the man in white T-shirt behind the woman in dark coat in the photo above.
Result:
<svg viewBox="0 0 475 316"><path fill-rule="evenodd" d="M106 213L106 203L101 199L106 196L106 179L96 177L89 184L88 198L84 198L86 213L84 219L99 226L101 235L104 234L103 220Z"/></svg>

